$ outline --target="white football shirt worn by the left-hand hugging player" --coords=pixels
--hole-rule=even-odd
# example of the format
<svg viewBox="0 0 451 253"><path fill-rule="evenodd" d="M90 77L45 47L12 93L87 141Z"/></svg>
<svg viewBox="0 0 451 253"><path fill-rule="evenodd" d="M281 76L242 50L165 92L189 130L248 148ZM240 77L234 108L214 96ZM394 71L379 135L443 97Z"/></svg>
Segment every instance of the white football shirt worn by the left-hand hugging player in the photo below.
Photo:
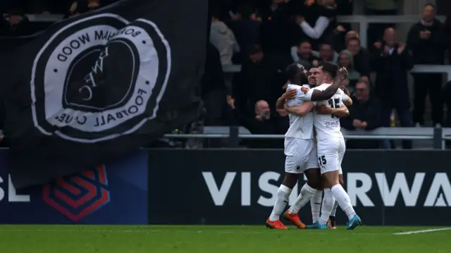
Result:
<svg viewBox="0 0 451 253"><path fill-rule="evenodd" d="M312 90L309 85L288 85L287 90L297 90L295 99L288 99L288 106L301 106L305 101L310 101ZM316 104L316 102L312 102ZM313 111L305 116L288 115L290 117L290 128L285 137L295 137L304 140L313 139Z"/></svg>

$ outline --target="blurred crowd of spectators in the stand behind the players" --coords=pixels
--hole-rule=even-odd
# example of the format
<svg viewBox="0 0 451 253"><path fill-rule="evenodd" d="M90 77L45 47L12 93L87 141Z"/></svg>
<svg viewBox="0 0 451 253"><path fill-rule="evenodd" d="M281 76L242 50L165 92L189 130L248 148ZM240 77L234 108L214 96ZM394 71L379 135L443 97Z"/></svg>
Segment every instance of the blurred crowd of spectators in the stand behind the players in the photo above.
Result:
<svg viewBox="0 0 451 253"><path fill-rule="evenodd" d="M0 36L24 36L50 23L30 22L25 13L55 14L64 18L111 4L114 0L14 0L3 1ZM397 15L397 0L362 0L366 15ZM412 74L413 99L408 75L416 64L445 64L451 48L451 19L435 18L435 6L426 4L407 42L397 40L395 24L370 24L368 44L359 32L337 16L353 13L352 0L216 0L210 1L211 29L202 98L204 125L240 125L254 134L284 134L288 113L275 108L286 87L285 68L292 62L307 68L331 61L349 71L344 85L352 92L350 117L342 118L347 130L379 127L424 126L428 95L434 126L451 127L444 107L451 104L451 84L441 74ZM209 20L210 21L210 20ZM230 66L240 66L227 70ZM413 100L413 104L410 101ZM444 120L447 119L447 121ZM193 126L195 125L195 126ZM200 128L195 123L190 130ZM194 130L193 130L194 129ZM180 130L183 132L184 130ZM280 148L283 140L254 140L248 147ZM349 141L349 148L390 148L378 141ZM402 143L412 148L412 142Z"/></svg>

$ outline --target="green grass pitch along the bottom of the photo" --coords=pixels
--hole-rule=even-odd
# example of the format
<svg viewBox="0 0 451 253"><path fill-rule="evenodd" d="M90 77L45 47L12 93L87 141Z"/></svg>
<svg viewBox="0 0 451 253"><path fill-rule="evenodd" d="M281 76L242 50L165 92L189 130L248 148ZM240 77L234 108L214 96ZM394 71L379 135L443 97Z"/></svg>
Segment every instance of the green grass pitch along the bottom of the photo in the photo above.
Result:
<svg viewBox="0 0 451 253"><path fill-rule="evenodd" d="M420 231L395 235L400 232ZM426 232L424 230L427 230ZM432 231L433 230L433 231ZM1 253L450 253L451 228L354 231L262 226L0 226Z"/></svg>

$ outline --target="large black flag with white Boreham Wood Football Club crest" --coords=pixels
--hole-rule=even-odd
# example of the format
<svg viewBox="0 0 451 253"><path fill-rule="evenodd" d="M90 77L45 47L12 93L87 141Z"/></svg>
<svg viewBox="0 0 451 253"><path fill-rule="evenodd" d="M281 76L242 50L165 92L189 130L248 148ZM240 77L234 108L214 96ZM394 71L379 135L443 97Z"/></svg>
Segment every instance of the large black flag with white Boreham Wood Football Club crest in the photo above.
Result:
<svg viewBox="0 0 451 253"><path fill-rule="evenodd" d="M93 168L197 118L206 17L207 0L123 0L10 51L1 101L13 185Z"/></svg>

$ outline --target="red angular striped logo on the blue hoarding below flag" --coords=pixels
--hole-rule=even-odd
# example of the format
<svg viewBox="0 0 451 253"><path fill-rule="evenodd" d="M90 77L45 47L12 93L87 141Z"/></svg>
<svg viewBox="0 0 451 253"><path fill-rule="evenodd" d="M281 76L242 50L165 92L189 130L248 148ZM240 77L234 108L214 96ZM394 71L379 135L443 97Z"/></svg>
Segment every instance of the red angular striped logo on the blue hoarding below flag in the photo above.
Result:
<svg viewBox="0 0 451 253"><path fill-rule="evenodd" d="M67 216L71 221L80 221L83 217L97 211L110 201L104 165L80 175L58 178L44 185L44 202Z"/></svg>

